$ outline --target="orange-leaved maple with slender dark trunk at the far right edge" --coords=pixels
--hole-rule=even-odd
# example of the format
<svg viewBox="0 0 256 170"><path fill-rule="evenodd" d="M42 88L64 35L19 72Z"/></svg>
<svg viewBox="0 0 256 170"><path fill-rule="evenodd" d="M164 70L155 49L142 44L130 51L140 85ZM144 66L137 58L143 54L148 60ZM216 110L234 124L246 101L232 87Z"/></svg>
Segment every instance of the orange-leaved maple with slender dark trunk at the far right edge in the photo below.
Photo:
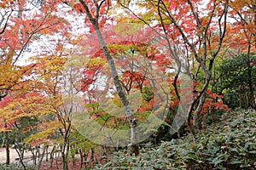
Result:
<svg viewBox="0 0 256 170"><path fill-rule="evenodd" d="M247 55L247 75L249 87L249 103L255 108L255 97L252 78L251 59L255 50L255 2L253 1L232 1L230 3L230 18L232 19L228 30L227 44L230 49L235 49L230 52L232 55ZM231 51L231 50L230 50Z"/></svg>

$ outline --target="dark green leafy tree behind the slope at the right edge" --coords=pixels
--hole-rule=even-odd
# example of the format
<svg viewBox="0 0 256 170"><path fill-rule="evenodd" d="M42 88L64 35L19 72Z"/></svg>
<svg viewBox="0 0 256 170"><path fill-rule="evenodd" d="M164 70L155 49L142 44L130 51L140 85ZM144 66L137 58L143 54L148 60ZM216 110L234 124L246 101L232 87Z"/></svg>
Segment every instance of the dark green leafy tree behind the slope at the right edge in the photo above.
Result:
<svg viewBox="0 0 256 170"><path fill-rule="evenodd" d="M250 94L250 87L255 87L256 85L256 68L248 62L247 54L239 54L233 59L224 60L222 65L218 67L218 71L220 72L219 93L224 94L224 91L235 91L239 94L240 103L238 106L240 108L243 99L246 103L246 109L249 105L253 106L249 98L252 95ZM244 95L243 98L242 95Z"/></svg>

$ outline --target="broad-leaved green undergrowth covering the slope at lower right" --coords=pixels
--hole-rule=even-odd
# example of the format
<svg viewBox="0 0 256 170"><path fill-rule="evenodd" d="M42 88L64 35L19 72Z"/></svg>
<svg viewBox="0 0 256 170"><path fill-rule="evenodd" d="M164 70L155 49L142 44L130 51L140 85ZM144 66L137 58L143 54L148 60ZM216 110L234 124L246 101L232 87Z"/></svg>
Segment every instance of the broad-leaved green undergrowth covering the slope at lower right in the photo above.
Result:
<svg viewBox="0 0 256 170"><path fill-rule="evenodd" d="M196 138L188 135L160 145L146 144L140 156L113 153L96 169L255 169L256 112L225 113L222 123Z"/></svg>

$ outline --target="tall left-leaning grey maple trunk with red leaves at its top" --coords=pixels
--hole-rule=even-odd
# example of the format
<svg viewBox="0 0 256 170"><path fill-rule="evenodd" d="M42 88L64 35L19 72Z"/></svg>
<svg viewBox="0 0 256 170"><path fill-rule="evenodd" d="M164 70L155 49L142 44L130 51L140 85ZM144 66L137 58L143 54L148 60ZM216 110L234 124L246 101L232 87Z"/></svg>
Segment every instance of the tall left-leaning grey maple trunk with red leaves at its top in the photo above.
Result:
<svg viewBox="0 0 256 170"><path fill-rule="evenodd" d="M111 77L113 78L114 86L117 90L117 94L119 95L119 99L123 105L125 110L125 115L127 116L130 127L131 127L131 153L138 155L138 142L137 142L137 119L131 110L131 105L125 97L124 90L119 82L119 77L117 73L117 69L115 67L113 57L108 51L107 44L102 37L102 31L100 30L101 26L104 24L104 17L102 16L106 12L108 12L108 8L111 4L111 1L93 1L93 2L85 2L83 0L79 1L83 8L80 8L80 12L84 12L87 15L90 24L93 26L96 31L96 36L98 42L101 45L102 52L105 55L108 65L111 71ZM102 20L100 20L102 19ZM101 21L101 22L100 22ZM101 24L100 24L101 23Z"/></svg>

